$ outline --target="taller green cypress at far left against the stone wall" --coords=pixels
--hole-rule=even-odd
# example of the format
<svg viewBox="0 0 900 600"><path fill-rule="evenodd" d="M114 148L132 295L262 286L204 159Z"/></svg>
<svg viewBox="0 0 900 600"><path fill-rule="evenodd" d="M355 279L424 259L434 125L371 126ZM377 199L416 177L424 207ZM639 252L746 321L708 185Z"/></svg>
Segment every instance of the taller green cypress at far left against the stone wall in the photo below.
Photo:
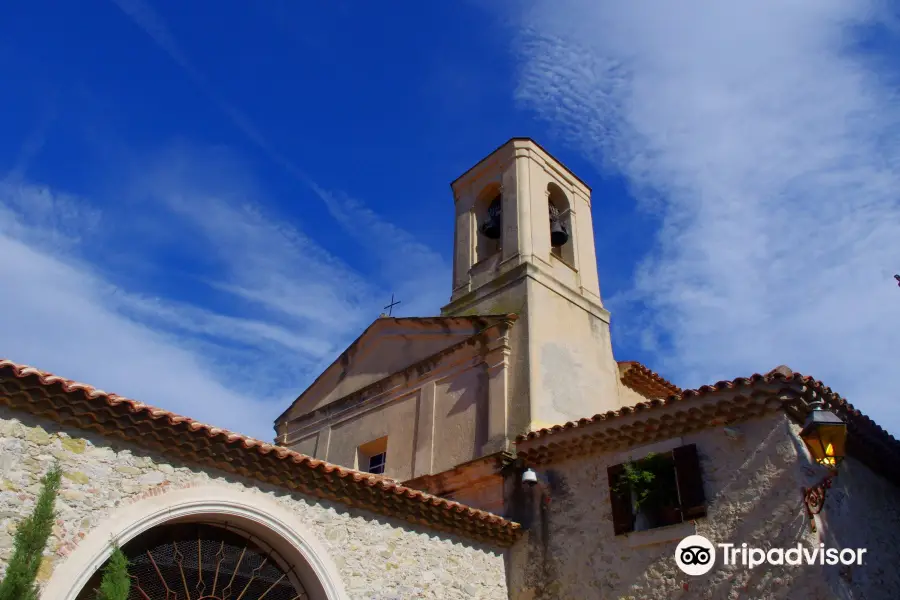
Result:
<svg viewBox="0 0 900 600"><path fill-rule="evenodd" d="M53 504L59 493L61 476L59 465L54 464L41 481L41 493L34 510L19 522L6 577L0 582L0 600L37 600L38 589L34 581L53 530L56 518Z"/></svg>

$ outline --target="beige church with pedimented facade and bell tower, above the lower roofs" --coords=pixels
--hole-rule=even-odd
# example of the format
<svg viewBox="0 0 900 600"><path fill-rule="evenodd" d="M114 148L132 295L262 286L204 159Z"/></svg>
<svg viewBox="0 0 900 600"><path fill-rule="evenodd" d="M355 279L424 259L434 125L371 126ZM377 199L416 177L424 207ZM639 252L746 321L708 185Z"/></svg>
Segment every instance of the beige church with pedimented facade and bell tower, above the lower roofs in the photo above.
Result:
<svg viewBox="0 0 900 600"><path fill-rule="evenodd" d="M643 396L613 358L590 188L514 138L451 190L441 315L376 320L275 428L299 452L502 513L516 436Z"/></svg>

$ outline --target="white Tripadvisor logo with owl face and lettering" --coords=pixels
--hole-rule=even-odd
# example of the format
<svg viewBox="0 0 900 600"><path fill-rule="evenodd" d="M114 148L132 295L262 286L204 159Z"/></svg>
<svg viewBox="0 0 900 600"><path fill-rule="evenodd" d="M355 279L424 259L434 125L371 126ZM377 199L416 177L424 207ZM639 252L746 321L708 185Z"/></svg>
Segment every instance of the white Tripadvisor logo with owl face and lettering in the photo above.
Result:
<svg viewBox="0 0 900 600"><path fill-rule="evenodd" d="M675 548L675 564L688 575L708 573L716 563L716 546L721 553L723 565L743 565L750 569L760 565L861 565L865 548L810 548L797 544L793 548L751 548L747 544L713 545L702 535L689 535Z"/></svg>

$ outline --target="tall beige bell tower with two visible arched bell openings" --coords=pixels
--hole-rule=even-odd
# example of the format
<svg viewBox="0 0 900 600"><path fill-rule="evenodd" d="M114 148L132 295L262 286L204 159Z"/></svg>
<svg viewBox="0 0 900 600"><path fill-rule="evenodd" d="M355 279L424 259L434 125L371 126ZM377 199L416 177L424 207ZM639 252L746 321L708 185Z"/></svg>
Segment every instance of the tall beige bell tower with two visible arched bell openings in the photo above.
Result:
<svg viewBox="0 0 900 600"><path fill-rule="evenodd" d="M441 314L519 316L510 435L619 408L590 188L528 138L509 140L451 188L453 291Z"/></svg>

